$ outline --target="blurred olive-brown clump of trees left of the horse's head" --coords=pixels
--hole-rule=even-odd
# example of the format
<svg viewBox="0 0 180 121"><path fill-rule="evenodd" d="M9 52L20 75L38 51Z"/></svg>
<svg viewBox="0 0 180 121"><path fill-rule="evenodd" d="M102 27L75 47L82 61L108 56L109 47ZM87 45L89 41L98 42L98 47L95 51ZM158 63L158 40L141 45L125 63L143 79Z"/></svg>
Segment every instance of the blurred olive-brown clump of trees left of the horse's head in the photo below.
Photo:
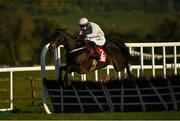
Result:
<svg viewBox="0 0 180 121"><path fill-rule="evenodd" d="M56 23L33 18L24 11L3 12L0 20L0 63L39 63L39 51L47 43Z"/></svg>

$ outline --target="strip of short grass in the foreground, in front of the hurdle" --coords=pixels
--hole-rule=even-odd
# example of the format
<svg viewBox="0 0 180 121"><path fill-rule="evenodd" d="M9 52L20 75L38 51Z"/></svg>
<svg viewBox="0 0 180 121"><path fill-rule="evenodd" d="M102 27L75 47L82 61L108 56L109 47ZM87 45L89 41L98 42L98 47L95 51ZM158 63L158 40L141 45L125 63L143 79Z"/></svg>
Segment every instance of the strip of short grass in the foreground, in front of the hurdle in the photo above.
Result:
<svg viewBox="0 0 180 121"><path fill-rule="evenodd" d="M0 119L6 120L177 120L180 112L128 112L128 113L0 113Z"/></svg>

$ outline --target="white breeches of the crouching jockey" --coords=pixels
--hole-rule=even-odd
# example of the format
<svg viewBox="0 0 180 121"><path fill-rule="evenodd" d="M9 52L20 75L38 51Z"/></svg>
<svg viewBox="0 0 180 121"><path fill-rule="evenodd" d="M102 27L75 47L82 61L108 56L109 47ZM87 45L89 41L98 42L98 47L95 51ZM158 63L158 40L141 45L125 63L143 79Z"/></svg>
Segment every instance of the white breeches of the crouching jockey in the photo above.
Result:
<svg viewBox="0 0 180 121"><path fill-rule="evenodd" d="M104 36L92 37L88 38L88 40L93 41L96 45L103 46L106 42L106 38Z"/></svg>

